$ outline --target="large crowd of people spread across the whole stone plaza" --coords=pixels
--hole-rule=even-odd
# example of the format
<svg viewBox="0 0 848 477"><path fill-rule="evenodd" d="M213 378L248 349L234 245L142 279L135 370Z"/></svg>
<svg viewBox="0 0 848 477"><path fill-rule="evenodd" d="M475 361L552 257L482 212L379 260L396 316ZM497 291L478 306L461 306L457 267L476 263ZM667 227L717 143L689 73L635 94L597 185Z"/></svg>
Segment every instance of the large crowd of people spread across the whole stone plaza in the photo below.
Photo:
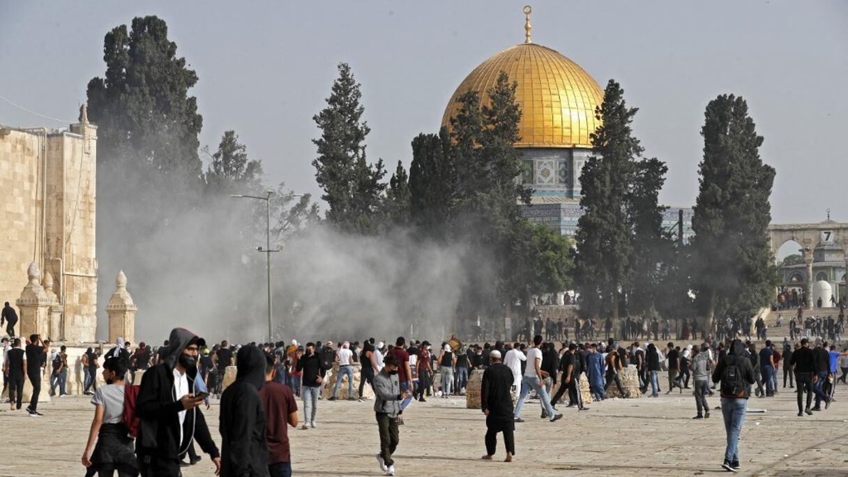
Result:
<svg viewBox="0 0 848 477"><path fill-rule="evenodd" d="M757 339L766 340L759 320L753 328ZM738 332L726 340L708 334L697 344L664 346L642 342L638 336L555 341L535 334L528 342L444 341L435 347L427 340L404 337L393 345L368 338L244 345L225 340L209 347L197 335L175 328L158 347L133 347L119 339L108 351L89 348L81 357L84 392L95 407L81 462L89 475L179 475L181 467L201 460L197 444L221 474L290 475L287 427L315 429L319 401L364 401L368 386L380 436L376 458L382 472L393 475L404 409L413 400L465 395L474 370L483 371L481 404L488 429L483 459L494 458L496 436L502 434L509 462L516 452L513 432L516 424L525 422L522 411L528 399L538 399L541 417L554 423L563 416L557 406L589 409L580 379L588 380L592 401L605 401L613 386L619 396L627 394L621 375L632 368L639 392L646 396L657 397L663 390L691 393L695 419L710 418L708 399L718 392L728 438L722 467L737 471L739 431L751 395L767 399L788 384L795 388L798 416L803 417L828 409L836 383L848 378L848 349L838 351L822 338L807 336L786 337L782 345L766 340L759 349L751 340L737 339L745 338ZM66 394L69 365L64 346L53 350L49 340L33 334L25 346L20 338L4 338L3 349L3 384L12 410L21 408L20 390L30 379L33 393L26 411L41 416L37 401L48 367L51 391ZM97 385L98 371L106 385ZM358 387L354 373L359 373ZM220 449L203 413L209 411L211 399L220 404Z"/></svg>

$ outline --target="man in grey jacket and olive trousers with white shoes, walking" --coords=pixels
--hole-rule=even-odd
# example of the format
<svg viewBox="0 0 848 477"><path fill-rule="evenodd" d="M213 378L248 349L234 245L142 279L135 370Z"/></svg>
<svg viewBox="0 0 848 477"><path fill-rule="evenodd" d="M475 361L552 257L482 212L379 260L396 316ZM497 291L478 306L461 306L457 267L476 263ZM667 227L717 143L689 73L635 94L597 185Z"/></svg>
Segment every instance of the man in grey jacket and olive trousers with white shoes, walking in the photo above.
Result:
<svg viewBox="0 0 848 477"><path fill-rule="evenodd" d="M374 412L377 414L377 428L380 431L380 453L377 454L377 462L386 475L394 475L392 454L400 442L400 401L410 397L410 391L400 390L398 368L398 358L388 355L383 360L382 371L374 377Z"/></svg>

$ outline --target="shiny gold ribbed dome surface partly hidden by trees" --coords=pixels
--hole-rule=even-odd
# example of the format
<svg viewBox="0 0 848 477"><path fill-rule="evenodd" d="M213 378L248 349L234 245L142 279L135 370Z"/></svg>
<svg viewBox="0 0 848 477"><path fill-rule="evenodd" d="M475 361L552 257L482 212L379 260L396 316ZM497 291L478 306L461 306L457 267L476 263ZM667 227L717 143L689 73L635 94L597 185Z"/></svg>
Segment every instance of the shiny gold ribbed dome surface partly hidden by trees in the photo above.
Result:
<svg viewBox="0 0 848 477"><path fill-rule="evenodd" d="M516 148L591 148L589 134L600 126L594 117L604 93L583 68L553 49L535 43L522 43L494 55L466 77L450 98L442 118L459 111L457 98L477 91L488 104L489 88L494 87L500 71L517 81L516 103L521 107L518 126L521 139Z"/></svg>

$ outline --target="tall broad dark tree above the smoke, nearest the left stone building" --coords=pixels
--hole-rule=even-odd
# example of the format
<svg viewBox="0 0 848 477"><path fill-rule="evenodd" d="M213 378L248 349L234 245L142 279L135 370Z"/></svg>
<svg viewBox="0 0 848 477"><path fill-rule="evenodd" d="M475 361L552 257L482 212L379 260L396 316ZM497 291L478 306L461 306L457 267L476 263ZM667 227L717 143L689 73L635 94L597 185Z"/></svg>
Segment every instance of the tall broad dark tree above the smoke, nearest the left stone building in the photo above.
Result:
<svg viewBox="0 0 848 477"><path fill-rule="evenodd" d="M136 17L129 33L115 27L103 52L106 74L87 89L88 116L98 125L98 174L108 181L155 171L175 190L197 187L203 118L188 89L198 76L176 57L165 20Z"/></svg>

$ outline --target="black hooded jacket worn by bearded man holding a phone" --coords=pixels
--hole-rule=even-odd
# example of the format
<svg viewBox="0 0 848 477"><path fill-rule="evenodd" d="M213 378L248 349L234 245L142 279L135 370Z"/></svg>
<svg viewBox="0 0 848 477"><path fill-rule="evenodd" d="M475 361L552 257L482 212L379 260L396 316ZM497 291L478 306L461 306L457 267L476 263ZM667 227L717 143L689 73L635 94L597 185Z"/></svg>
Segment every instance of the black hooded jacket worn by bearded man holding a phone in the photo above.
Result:
<svg viewBox="0 0 848 477"><path fill-rule="evenodd" d="M174 368L182 351L198 341L198 336L187 329L174 328L170 332L170 345L165 351L165 362L144 373L135 411L139 418L136 440L136 452L139 456L179 459L180 451L186 452L187 443L192 437L210 457L220 456L199 407L186 412L182 426L183 439L180 442L179 412L183 407L174 395ZM186 373L191 384L197 376L197 368L187 370Z"/></svg>

